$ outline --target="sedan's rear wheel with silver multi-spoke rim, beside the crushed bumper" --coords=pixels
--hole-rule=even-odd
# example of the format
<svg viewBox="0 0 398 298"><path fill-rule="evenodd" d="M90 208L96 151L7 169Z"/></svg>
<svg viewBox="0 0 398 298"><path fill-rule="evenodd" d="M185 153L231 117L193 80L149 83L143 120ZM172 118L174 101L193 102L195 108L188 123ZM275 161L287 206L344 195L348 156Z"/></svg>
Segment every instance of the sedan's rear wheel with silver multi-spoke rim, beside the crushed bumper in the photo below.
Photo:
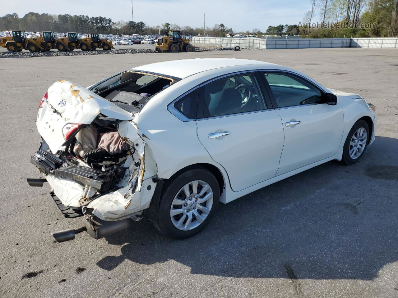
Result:
<svg viewBox="0 0 398 298"><path fill-rule="evenodd" d="M166 182L154 225L170 238L188 238L209 224L219 199L219 184L211 172L205 168L187 170Z"/></svg>

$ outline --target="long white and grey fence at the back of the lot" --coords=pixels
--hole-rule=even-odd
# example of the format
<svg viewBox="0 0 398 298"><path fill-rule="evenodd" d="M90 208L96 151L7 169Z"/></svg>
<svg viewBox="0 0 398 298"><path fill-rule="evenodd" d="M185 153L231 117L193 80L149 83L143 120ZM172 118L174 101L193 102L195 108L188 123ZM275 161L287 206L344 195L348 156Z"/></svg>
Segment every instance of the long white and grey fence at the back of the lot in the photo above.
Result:
<svg viewBox="0 0 398 298"><path fill-rule="evenodd" d="M265 39L257 37L192 37L192 43L225 47L278 48L398 48L398 38L301 38Z"/></svg>

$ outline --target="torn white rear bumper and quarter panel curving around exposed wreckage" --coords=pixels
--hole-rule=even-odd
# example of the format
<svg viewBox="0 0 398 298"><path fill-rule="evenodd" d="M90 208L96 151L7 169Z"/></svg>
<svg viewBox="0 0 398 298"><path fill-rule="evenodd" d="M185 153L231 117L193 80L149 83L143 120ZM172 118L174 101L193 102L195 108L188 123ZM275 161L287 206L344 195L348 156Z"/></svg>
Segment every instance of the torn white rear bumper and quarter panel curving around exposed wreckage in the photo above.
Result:
<svg viewBox="0 0 398 298"><path fill-rule="evenodd" d="M139 135L134 122L120 122L118 132L134 149L123 164L127 170L114 191L98 195L97 189L75 180L46 175L54 193L65 206L85 206L93 209L93 215L105 221L128 218L149 207L157 184L156 180L152 180L157 175L152 150Z"/></svg>

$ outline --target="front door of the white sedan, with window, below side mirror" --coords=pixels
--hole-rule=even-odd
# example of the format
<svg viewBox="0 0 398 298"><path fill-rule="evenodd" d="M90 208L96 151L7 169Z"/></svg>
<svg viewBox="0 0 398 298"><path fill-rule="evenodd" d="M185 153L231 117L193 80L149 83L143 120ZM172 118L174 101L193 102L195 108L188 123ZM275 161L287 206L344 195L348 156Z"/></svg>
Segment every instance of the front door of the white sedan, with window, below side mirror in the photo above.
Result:
<svg viewBox="0 0 398 298"><path fill-rule="evenodd" d="M344 130L341 106L325 103L322 91L303 77L283 72L261 75L285 132L277 175L335 155Z"/></svg>

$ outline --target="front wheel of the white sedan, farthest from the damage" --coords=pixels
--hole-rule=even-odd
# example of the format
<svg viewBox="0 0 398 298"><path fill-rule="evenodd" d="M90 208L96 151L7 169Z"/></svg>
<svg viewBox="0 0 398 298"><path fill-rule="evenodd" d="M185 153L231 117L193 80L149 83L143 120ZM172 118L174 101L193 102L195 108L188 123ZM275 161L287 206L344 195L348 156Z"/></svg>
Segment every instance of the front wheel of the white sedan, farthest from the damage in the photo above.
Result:
<svg viewBox="0 0 398 298"><path fill-rule="evenodd" d="M343 163L357 163L369 143L371 135L369 134L369 125L365 120L357 121L351 128L345 139L343 148Z"/></svg>

